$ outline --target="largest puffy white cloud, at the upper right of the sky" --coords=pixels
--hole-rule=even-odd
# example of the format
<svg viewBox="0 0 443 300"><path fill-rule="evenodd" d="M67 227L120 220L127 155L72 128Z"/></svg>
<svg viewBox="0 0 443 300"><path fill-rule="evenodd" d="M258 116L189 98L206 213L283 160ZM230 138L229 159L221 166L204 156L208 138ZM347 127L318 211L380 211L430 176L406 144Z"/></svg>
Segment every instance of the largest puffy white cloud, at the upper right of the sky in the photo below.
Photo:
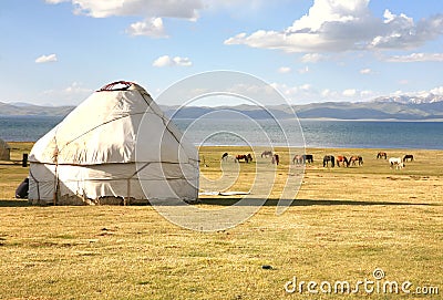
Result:
<svg viewBox="0 0 443 300"><path fill-rule="evenodd" d="M443 33L443 14L418 23L405 14L375 18L369 0L315 0L309 12L281 31L239 33L225 44L279 49L286 52L340 52L411 49ZM308 59L308 58L307 58Z"/></svg>

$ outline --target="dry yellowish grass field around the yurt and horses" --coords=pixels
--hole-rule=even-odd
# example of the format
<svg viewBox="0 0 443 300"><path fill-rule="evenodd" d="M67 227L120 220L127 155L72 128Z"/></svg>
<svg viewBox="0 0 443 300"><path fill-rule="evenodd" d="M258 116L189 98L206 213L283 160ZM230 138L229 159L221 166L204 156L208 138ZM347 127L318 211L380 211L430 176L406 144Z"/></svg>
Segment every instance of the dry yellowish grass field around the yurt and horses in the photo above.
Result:
<svg viewBox="0 0 443 300"><path fill-rule="evenodd" d="M12 159L31 147L11 145ZM217 188L210 180L222 176L224 152L247 151L200 148L207 165L202 182L208 179L202 188ZM276 215L281 188L302 168L289 163L285 149L278 149L276 170L256 153L251 164L237 165L239 177L229 190L249 190L260 166L275 178L269 199L243 224L214 232L183 229L151 206L28 206L13 198L28 169L0 165L0 299L311 298L308 283L301 293L285 291L295 277L297 287L318 283L311 286L319 292L313 299L441 299L443 151L388 151L414 155L401 170L377 159L378 151L308 149L315 163L282 215ZM361 155L364 165L323 168L324 154ZM238 197L203 196L196 207L223 209ZM377 268L383 279L374 279ZM337 281L356 290L368 280L375 282L373 292L363 286L357 293L334 292ZM411 293L401 287L383 293L387 281L410 281ZM328 282L331 292L322 292Z"/></svg>

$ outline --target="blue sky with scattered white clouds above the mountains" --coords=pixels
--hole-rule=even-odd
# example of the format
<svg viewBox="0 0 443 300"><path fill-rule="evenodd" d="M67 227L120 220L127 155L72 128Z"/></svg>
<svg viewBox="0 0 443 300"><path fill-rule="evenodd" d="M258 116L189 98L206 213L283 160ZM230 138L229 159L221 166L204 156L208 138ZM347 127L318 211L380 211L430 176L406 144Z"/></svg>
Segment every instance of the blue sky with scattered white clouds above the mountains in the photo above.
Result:
<svg viewBox="0 0 443 300"><path fill-rule="evenodd" d="M4 103L76 105L119 80L155 100L216 70L290 104L443 94L441 0L2 0L0 30Z"/></svg>

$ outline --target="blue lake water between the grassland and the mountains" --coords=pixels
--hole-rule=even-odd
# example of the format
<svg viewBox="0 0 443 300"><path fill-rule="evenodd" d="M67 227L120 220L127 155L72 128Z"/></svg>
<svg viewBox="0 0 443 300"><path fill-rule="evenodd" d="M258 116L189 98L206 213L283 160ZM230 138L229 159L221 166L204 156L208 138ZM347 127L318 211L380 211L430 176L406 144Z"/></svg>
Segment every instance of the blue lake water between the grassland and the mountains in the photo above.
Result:
<svg viewBox="0 0 443 300"><path fill-rule="evenodd" d="M55 126L62 117L0 116L0 138L34 142ZM174 120L188 138L206 145L251 144L308 147L429 148L443 149L443 122L375 121L297 121L284 120ZM279 127L280 125L280 127Z"/></svg>

